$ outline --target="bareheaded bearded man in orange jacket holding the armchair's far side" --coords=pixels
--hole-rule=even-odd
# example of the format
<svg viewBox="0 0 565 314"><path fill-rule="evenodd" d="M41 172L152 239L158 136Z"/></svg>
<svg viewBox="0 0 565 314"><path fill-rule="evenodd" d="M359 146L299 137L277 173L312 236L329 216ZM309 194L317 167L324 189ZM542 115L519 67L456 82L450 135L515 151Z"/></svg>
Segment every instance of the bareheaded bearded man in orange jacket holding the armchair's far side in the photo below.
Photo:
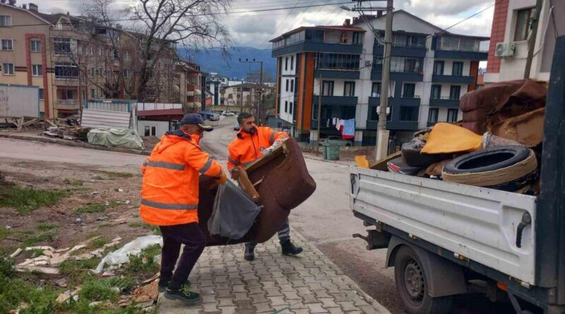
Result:
<svg viewBox="0 0 565 314"><path fill-rule="evenodd" d="M275 132L272 128L258 127L255 124L255 117L247 112L242 112L237 116L239 123L239 133L236 138L228 145L227 169L234 167L244 168L254 162L255 159L270 153L273 147L288 138L285 132ZM297 255L302 253L302 248L295 246L290 241L290 225L288 219L285 220L283 228L278 231L280 246L284 255ZM255 259L256 242L245 244L244 258L246 260Z"/></svg>

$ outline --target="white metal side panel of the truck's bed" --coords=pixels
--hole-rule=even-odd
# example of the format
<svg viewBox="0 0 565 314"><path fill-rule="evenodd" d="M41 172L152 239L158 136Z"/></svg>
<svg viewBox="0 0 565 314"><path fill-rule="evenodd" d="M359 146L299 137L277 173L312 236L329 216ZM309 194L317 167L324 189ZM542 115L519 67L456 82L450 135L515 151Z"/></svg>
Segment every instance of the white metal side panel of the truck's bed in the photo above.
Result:
<svg viewBox="0 0 565 314"><path fill-rule="evenodd" d="M535 285L535 208L530 195L351 167L355 212ZM516 229L524 212L522 246Z"/></svg>

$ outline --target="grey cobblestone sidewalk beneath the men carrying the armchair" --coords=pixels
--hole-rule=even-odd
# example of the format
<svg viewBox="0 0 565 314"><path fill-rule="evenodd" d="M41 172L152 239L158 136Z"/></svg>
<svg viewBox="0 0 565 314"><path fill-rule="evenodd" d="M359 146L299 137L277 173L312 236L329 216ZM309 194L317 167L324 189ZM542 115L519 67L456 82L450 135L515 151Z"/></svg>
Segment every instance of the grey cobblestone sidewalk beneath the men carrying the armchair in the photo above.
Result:
<svg viewBox="0 0 565 314"><path fill-rule="evenodd" d="M280 253L276 236L243 258L243 245L204 250L193 270L191 289L198 306L160 297L161 313L389 313L313 245L292 230L304 248L296 257Z"/></svg>

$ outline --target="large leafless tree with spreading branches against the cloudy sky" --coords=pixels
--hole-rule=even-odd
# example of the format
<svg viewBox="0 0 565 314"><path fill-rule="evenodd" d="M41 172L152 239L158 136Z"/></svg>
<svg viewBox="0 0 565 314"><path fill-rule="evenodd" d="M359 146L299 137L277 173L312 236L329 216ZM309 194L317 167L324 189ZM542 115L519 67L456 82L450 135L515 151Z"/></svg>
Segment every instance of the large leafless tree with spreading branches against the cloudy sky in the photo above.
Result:
<svg viewBox="0 0 565 314"><path fill-rule="evenodd" d="M139 0L131 7L133 18L144 25L140 45L138 99L145 99L151 71L162 54L178 45L189 49L218 46L224 54L230 47L230 32L218 15L230 0Z"/></svg>

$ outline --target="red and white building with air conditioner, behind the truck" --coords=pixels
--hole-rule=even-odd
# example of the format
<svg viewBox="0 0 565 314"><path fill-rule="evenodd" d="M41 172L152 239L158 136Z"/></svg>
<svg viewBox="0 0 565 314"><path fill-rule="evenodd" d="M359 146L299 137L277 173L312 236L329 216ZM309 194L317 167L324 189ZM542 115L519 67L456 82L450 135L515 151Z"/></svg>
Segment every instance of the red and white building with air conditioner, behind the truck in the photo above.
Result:
<svg viewBox="0 0 565 314"><path fill-rule="evenodd" d="M535 0L499 0L494 4L484 84L524 78ZM565 34L565 1L542 2L530 78L549 80L555 40Z"/></svg>

